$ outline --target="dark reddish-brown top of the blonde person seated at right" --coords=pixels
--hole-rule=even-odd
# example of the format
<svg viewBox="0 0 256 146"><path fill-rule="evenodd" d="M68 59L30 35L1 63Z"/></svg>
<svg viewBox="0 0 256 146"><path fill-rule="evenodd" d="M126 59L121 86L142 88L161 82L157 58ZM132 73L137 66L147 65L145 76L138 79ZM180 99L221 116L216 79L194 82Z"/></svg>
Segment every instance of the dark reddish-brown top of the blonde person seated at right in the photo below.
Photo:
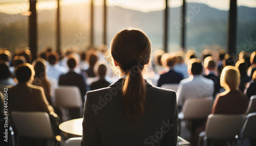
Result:
<svg viewBox="0 0 256 146"><path fill-rule="evenodd" d="M241 90L219 93L212 106L211 114L244 114L249 100Z"/></svg>

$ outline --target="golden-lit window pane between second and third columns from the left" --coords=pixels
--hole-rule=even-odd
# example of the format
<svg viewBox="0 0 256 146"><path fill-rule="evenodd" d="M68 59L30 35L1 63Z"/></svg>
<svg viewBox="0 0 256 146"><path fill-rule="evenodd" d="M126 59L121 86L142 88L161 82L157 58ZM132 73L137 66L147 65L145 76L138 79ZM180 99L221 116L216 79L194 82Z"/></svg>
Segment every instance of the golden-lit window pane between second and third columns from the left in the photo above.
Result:
<svg viewBox="0 0 256 146"><path fill-rule="evenodd" d="M91 1L60 1L61 45L84 49L90 42Z"/></svg>

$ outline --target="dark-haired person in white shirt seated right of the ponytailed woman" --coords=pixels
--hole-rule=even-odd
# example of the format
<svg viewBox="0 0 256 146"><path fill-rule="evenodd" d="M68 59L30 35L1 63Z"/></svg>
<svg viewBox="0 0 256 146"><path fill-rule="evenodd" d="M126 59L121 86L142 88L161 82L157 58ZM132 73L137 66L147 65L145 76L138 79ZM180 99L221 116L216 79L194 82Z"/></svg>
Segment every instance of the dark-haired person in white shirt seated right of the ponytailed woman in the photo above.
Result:
<svg viewBox="0 0 256 146"><path fill-rule="evenodd" d="M205 98L214 93L214 81L202 76L203 66L200 59L188 61L189 78L181 80L177 90L178 107L181 108L186 99Z"/></svg>

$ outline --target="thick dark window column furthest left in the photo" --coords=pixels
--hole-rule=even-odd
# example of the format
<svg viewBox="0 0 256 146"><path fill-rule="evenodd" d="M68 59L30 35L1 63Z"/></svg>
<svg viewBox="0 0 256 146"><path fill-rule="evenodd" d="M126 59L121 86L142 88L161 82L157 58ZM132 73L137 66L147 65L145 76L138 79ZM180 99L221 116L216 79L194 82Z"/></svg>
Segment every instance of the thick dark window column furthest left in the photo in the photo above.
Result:
<svg viewBox="0 0 256 146"><path fill-rule="evenodd" d="M29 47L32 53L32 60L36 59L37 55L37 22L36 22L36 1L29 1Z"/></svg>

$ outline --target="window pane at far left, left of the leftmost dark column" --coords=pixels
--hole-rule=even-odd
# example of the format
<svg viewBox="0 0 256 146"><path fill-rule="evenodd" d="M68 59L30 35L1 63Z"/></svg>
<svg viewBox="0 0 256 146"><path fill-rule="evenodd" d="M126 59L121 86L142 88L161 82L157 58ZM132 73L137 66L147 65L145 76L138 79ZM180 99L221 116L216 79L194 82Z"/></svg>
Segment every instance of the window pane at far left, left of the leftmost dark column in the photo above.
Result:
<svg viewBox="0 0 256 146"><path fill-rule="evenodd" d="M0 47L14 52L28 46L28 1L0 3Z"/></svg>

